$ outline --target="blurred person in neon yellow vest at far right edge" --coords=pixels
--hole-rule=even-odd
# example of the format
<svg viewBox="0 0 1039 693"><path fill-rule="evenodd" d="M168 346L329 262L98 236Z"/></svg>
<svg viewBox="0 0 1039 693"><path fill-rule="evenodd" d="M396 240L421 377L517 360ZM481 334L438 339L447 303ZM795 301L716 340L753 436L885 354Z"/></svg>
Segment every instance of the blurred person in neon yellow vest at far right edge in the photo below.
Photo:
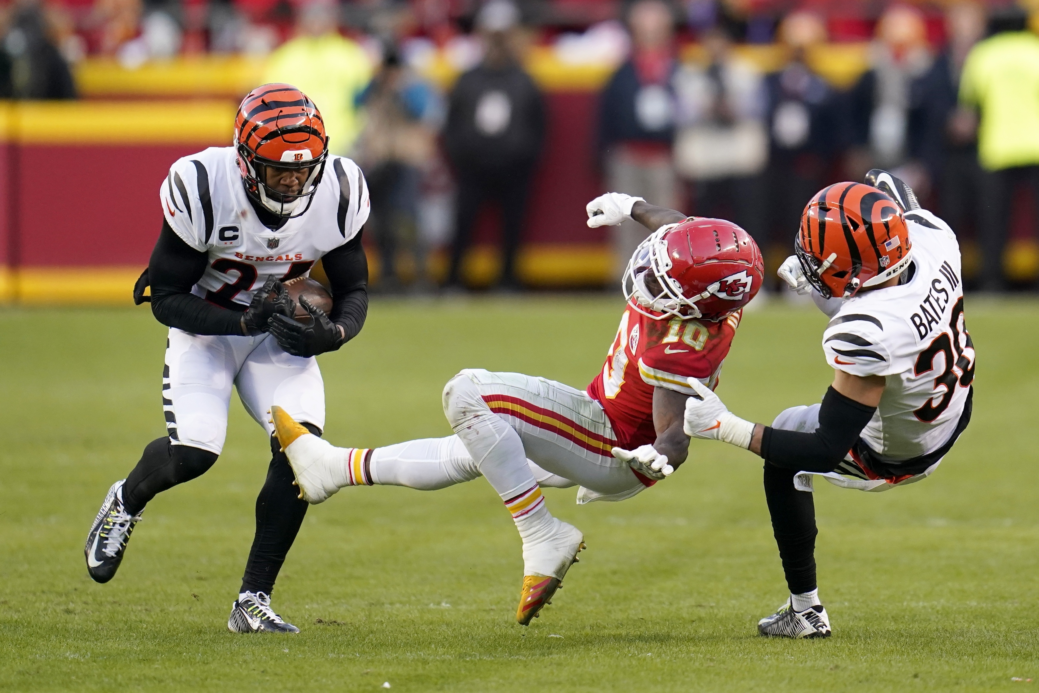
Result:
<svg viewBox="0 0 1039 693"><path fill-rule="evenodd" d="M1025 29L1016 8L992 17L992 35L967 55L960 79L960 103L977 109L978 158L987 171L982 199L982 289L1005 284L1003 254L1013 193L1028 184L1039 216L1039 36ZM1039 218L1033 218L1039 226Z"/></svg>

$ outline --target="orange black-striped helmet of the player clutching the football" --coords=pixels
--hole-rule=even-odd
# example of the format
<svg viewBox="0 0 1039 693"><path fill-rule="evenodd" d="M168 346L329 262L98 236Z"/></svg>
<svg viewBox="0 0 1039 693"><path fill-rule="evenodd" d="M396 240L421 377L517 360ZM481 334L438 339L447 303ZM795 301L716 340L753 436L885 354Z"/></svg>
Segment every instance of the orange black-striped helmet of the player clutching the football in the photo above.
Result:
<svg viewBox="0 0 1039 693"><path fill-rule="evenodd" d="M250 197L281 217L310 208L328 158L328 135L305 94L281 83L249 91L235 117L235 146ZM267 184L268 166L302 169L307 177L298 192L281 192Z"/></svg>

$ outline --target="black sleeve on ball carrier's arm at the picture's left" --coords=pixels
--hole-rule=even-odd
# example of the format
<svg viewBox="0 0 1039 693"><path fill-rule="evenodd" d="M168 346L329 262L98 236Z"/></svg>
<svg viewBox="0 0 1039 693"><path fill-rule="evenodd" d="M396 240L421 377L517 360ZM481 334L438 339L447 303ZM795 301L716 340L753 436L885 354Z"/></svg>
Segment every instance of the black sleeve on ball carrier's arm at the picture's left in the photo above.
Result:
<svg viewBox="0 0 1039 693"><path fill-rule="evenodd" d="M148 263L152 315L164 325L195 335L241 335L241 313L214 305L191 293L208 262L206 252L181 240L163 220Z"/></svg>

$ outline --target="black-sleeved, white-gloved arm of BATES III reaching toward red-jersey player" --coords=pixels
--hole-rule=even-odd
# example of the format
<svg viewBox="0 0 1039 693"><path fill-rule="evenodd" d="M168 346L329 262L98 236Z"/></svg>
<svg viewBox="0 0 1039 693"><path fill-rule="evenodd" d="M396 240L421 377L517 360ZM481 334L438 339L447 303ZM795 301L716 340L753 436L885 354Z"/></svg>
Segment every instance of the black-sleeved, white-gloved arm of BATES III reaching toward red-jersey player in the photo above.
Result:
<svg viewBox="0 0 1039 693"><path fill-rule="evenodd" d="M740 419L696 378L689 378L689 385L697 397L686 402L687 434L723 441L750 450L777 467L803 472L836 469L870 423L884 393L883 377L835 371L833 384L819 408L819 428L805 433Z"/></svg>

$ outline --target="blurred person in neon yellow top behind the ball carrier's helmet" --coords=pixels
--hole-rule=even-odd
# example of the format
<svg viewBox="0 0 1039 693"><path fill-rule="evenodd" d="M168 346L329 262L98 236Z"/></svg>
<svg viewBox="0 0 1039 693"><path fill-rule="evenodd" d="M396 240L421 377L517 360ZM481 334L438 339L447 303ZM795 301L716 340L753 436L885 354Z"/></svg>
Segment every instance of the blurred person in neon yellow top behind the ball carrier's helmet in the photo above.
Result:
<svg viewBox="0 0 1039 693"><path fill-rule="evenodd" d="M287 82L310 97L324 118L329 151L345 155L361 132L356 100L373 65L361 46L340 35L338 11L327 0L303 5L298 35L271 54L264 81Z"/></svg>

